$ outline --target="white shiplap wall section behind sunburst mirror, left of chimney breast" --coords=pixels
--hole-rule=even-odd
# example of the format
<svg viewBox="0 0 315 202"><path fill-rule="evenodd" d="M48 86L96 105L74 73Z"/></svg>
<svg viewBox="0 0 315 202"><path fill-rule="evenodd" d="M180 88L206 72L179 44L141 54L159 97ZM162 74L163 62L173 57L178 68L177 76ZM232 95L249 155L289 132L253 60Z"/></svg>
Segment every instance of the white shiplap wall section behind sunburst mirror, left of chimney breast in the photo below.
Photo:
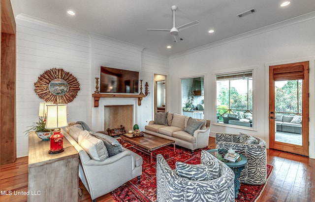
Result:
<svg viewBox="0 0 315 202"><path fill-rule="evenodd" d="M16 17L16 136L17 157L28 155L27 126L38 121L34 92L38 76L50 68L63 68L75 76L80 91L68 103L68 121L91 120L90 36L26 15ZM49 148L47 148L48 151Z"/></svg>

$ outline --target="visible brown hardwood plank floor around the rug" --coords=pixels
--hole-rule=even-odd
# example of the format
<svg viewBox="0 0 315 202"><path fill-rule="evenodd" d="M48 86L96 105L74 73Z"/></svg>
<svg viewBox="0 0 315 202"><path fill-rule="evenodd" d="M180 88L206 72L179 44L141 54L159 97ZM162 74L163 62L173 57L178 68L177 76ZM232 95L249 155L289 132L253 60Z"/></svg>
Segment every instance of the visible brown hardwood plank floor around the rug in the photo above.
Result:
<svg viewBox="0 0 315 202"><path fill-rule="evenodd" d="M210 149L215 148L215 138L210 137ZM267 185L257 202L314 202L315 201L315 159L285 153L273 149L267 150L267 163L273 171ZM79 202L91 202L83 184ZM0 202L27 202L28 157L18 158L13 164L0 168ZM12 191L12 195L4 195ZM19 193L20 195L15 195ZM110 194L97 198L97 202L114 202Z"/></svg>

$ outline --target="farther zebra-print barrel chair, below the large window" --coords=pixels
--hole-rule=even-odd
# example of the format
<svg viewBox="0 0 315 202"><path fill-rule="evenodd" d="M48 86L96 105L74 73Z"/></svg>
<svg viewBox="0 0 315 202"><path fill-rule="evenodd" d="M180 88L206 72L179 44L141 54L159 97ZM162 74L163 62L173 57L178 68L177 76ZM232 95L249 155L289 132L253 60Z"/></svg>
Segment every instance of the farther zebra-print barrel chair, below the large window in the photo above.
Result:
<svg viewBox="0 0 315 202"><path fill-rule="evenodd" d="M234 149L247 158L247 164L241 171L240 182L252 185L264 184L267 180L266 142L247 134L217 134L218 149Z"/></svg>

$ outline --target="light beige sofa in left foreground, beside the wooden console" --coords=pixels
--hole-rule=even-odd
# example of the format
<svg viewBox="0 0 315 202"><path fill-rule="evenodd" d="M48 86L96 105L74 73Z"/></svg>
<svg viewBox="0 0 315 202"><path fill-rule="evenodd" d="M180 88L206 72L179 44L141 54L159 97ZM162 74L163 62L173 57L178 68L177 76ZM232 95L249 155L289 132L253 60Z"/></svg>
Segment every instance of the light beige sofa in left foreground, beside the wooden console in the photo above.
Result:
<svg viewBox="0 0 315 202"><path fill-rule="evenodd" d="M94 159L93 156L91 157L91 153L94 152L95 154L95 150L87 150L85 145L80 142L82 133L88 133L87 130L77 129L77 127L72 126L66 127L66 132L62 131L62 133L79 152L79 178L90 193L93 202L96 202L96 198L113 191L135 177L138 177L140 182L143 160L138 154L122 148L122 152L110 156L110 150L107 145L108 157L104 160L95 160L95 157ZM96 133L92 132L92 134ZM79 140L76 140L77 137ZM91 144L91 141L88 144ZM100 149L99 145L96 145L96 150Z"/></svg>

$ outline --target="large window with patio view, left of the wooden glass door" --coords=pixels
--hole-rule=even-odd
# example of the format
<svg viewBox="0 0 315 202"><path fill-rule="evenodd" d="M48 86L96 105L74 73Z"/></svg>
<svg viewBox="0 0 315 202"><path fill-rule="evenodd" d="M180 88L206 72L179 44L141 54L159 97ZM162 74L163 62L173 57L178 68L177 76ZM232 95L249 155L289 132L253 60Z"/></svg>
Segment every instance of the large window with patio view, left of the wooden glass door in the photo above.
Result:
<svg viewBox="0 0 315 202"><path fill-rule="evenodd" d="M217 122L252 127L252 70L217 75Z"/></svg>

